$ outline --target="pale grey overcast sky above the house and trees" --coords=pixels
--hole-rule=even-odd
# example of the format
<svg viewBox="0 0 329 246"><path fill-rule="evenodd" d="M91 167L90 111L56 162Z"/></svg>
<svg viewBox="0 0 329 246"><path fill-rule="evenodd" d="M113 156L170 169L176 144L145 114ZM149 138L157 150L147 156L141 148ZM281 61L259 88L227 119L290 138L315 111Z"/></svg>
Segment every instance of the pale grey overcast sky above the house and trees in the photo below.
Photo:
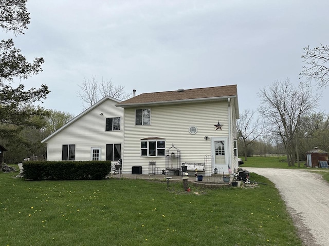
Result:
<svg viewBox="0 0 329 246"><path fill-rule="evenodd" d="M84 78L112 79L131 93L237 85L240 112L275 80L298 85L303 48L329 45L327 0L28 0L31 23L13 37L43 72L44 107L78 115ZM4 38L10 34L2 32ZM318 111L326 110L322 92Z"/></svg>

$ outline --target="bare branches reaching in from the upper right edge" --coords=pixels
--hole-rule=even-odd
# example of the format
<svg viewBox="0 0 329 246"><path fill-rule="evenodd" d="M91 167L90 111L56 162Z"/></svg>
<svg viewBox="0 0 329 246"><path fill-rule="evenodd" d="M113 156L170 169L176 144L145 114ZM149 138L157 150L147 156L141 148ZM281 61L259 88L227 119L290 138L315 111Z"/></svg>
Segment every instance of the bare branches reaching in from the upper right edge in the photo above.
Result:
<svg viewBox="0 0 329 246"><path fill-rule="evenodd" d="M302 55L303 62L306 63L303 66L303 71L300 73L301 78L306 78L306 83L312 83L315 80L318 88L326 87L329 82L329 47L322 45L314 49L309 46L304 48Z"/></svg>

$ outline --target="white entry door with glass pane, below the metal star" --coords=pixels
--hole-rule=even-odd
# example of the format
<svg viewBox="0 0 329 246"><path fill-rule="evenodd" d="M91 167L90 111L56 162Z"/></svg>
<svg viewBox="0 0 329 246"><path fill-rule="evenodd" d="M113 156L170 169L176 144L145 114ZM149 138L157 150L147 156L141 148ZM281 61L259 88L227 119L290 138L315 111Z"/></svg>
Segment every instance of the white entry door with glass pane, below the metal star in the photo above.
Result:
<svg viewBox="0 0 329 246"><path fill-rule="evenodd" d="M228 148L227 138L212 138L212 156L214 159L213 170L218 173L228 172Z"/></svg>

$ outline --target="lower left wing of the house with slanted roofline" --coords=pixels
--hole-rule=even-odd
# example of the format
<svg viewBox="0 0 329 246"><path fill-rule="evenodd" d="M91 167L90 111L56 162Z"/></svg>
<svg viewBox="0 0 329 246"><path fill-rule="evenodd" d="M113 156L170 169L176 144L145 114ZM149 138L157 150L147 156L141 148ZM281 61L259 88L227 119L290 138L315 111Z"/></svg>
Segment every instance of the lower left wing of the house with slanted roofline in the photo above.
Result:
<svg viewBox="0 0 329 246"><path fill-rule="evenodd" d="M112 160L121 158L123 109L106 96L49 135L47 160Z"/></svg>

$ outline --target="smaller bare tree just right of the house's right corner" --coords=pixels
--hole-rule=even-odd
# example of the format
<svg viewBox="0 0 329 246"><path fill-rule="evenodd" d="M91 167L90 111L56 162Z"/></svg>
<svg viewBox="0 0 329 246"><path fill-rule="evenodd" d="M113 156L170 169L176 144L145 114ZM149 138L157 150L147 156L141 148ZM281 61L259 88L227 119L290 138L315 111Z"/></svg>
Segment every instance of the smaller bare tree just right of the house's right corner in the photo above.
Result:
<svg viewBox="0 0 329 246"><path fill-rule="evenodd" d="M255 111L246 109L240 114L240 119L236 120L237 135L242 139L245 160L247 160L247 147L259 138L264 130L264 121L259 117L254 119Z"/></svg>

